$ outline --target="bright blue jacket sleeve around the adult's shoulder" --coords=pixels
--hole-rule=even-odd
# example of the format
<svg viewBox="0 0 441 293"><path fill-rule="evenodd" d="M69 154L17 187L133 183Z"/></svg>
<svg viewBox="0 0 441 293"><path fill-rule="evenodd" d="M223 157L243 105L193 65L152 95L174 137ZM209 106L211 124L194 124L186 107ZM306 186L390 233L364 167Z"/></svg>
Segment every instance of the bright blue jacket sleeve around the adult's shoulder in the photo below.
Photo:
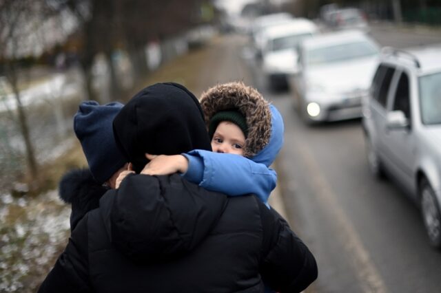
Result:
<svg viewBox="0 0 441 293"><path fill-rule="evenodd" d="M267 204L276 187L276 171L241 155L194 150L185 156L189 170L183 176L210 191L230 196L252 193Z"/></svg>

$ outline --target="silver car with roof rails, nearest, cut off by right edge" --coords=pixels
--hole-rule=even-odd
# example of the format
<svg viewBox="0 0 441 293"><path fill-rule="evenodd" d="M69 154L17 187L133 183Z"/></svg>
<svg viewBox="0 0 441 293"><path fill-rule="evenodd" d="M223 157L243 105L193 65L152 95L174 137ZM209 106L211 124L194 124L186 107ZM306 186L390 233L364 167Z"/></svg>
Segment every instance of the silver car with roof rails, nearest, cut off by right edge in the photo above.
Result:
<svg viewBox="0 0 441 293"><path fill-rule="evenodd" d="M420 206L429 241L441 248L441 45L384 51L363 101L367 162Z"/></svg>

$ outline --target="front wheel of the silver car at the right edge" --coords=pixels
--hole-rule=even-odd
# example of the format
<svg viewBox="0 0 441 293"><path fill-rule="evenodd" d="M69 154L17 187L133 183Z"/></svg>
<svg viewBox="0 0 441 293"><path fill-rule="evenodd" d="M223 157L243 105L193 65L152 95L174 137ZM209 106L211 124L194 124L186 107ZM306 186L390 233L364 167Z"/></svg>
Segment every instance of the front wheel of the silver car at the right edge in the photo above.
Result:
<svg viewBox="0 0 441 293"><path fill-rule="evenodd" d="M420 184L421 214L431 245L441 248L441 213L432 186L426 179Z"/></svg>

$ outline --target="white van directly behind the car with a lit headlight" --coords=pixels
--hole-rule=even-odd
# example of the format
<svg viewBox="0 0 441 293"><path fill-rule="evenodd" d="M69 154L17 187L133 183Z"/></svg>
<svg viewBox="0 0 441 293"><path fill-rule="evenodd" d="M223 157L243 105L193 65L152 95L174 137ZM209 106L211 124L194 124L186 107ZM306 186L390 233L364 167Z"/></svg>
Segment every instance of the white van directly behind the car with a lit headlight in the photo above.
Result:
<svg viewBox="0 0 441 293"><path fill-rule="evenodd" d="M271 88L286 87L287 76L298 72L298 44L318 33L308 19L292 19L262 32L262 69Z"/></svg>

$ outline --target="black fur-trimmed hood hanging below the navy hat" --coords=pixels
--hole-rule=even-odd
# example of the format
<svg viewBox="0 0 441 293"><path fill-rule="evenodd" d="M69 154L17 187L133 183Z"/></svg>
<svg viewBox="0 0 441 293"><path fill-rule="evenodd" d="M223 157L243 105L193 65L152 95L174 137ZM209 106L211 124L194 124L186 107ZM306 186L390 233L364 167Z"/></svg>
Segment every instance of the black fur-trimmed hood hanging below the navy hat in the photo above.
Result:
<svg viewBox="0 0 441 293"><path fill-rule="evenodd" d="M90 210L99 207L99 199L109 188L96 183L89 169L74 169L65 173L59 184L59 196L72 204L70 230Z"/></svg>

